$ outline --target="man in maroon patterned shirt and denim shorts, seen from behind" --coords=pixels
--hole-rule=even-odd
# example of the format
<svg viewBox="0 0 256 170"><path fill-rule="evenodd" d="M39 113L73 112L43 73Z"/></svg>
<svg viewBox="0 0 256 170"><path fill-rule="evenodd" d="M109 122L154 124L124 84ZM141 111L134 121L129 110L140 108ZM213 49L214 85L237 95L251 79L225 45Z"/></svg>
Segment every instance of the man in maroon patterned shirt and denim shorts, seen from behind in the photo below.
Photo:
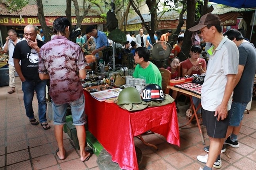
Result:
<svg viewBox="0 0 256 170"><path fill-rule="evenodd" d="M50 96L54 111L55 137L58 143L56 156L65 159L63 126L67 106L71 106L73 124L77 129L81 161L88 161L91 150L85 149L85 97L80 82L85 79L86 63L79 45L69 41L70 23L67 18L57 18L54 23L56 36L42 46L39 53L40 79L50 79Z"/></svg>

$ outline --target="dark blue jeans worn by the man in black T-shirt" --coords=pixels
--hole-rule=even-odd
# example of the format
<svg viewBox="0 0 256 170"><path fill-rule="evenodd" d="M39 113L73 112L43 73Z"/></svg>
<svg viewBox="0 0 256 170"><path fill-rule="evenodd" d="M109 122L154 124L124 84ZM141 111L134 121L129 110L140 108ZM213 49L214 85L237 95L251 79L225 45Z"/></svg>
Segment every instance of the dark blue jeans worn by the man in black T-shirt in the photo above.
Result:
<svg viewBox="0 0 256 170"><path fill-rule="evenodd" d="M32 101L34 97L34 91L37 93L38 100L38 117L40 123L46 122L46 100L45 100L45 87L46 80L22 82L22 91L24 93L23 100L26 109L26 115L29 119L34 119L34 111Z"/></svg>

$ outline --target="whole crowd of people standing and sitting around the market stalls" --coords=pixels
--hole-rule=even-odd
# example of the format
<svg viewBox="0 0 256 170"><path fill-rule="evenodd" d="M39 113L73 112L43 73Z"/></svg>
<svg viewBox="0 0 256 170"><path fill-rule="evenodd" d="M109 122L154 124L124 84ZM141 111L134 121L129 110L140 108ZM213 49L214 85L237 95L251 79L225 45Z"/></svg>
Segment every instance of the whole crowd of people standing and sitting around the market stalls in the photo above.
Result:
<svg viewBox="0 0 256 170"><path fill-rule="evenodd" d="M9 53L10 91L15 92L15 71L22 82L23 100L26 115L31 125L39 122L44 130L50 125L46 119L46 81L50 80L49 94L54 110L55 137L58 144L56 155L65 159L63 144L63 126L65 111L71 106L73 124L77 129L81 161L88 161L92 150L85 147L85 97L80 79L85 79L87 63L81 47L94 49L91 54L99 58L99 52L110 45L106 34L94 26L88 26L84 35L80 33L75 42L68 38L71 34L71 24L65 17L57 18L53 23L54 36L49 42L44 42L43 32L38 27L27 25L24 28L24 40L17 37L15 30L8 31L4 52ZM256 49L246 41L239 30L230 29L222 33L221 21L218 15L207 13L200 19L198 25L188 29L194 32L192 47L187 60L182 62L182 75L206 74L201 90L201 100L193 98L202 114L202 124L206 126L210 146L204 147L208 152L198 156L200 162L206 163L200 170L221 168L220 153L225 151L223 144L239 147L237 138L242 125L243 112L251 100L253 81L256 73ZM200 31L200 32L198 32ZM185 30L181 30L174 47L174 57L168 70L171 79L178 76L178 66L181 63L178 56L181 53ZM168 42L171 30L159 36L154 35L154 42ZM145 79L146 83L158 84L162 87L162 76L158 67L149 60L153 44L150 36L144 34L141 28L139 34L126 32L127 41L123 44L125 53L133 53L136 67L133 77ZM92 43L93 42L93 43ZM200 57L200 44L208 43L206 52L208 63ZM79 44L79 45L78 45ZM53 48L56 47L56 48ZM69 50L67 50L69 49ZM65 67L63 67L65 66ZM207 68L207 69L206 69ZM39 122L35 119L32 100L37 95ZM173 91L174 99L177 92ZM192 114L192 110L191 113ZM191 116L191 115L189 115Z"/></svg>

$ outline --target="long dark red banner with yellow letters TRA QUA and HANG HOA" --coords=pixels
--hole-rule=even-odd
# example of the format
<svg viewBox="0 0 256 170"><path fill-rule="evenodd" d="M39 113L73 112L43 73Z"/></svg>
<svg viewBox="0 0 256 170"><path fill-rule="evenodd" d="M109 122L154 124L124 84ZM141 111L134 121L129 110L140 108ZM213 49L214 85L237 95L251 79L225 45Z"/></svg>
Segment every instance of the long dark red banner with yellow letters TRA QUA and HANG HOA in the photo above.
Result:
<svg viewBox="0 0 256 170"><path fill-rule="evenodd" d="M46 25L52 26L53 21L58 17L45 17ZM71 18L72 25L77 24L76 17ZM22 17L19 19L17 16L0 16L0 25L6 26L26 26L26 25L40 26L38 17ZM96 24L106 24L106 20L100 16L86 16L81 25L96 25Z"/></svg>

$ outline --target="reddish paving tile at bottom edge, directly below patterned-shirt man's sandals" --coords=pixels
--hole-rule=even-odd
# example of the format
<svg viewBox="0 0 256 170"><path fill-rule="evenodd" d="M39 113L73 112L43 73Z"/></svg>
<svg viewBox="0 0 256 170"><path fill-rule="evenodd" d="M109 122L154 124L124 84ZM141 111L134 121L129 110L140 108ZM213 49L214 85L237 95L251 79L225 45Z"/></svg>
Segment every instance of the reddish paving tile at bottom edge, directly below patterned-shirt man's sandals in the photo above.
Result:
<svg viewBox="0 0 256 170"><path fill-rule="evenodd" d="M85 164L80 161L80 158L60 163L60 167L62 170L85 170L87 168Z"/></svg>

